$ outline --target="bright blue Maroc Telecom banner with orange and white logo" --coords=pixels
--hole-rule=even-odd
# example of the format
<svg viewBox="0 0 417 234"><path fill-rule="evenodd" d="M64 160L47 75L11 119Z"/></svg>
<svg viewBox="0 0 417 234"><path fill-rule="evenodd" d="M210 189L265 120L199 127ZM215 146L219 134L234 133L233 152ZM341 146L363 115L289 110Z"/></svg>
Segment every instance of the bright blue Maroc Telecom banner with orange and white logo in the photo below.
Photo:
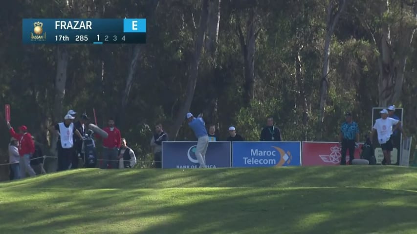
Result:
<svg viewBox="0 0 417 234"><path fill-rule="evenodd" d="M282 167L300 165L300 141L232 142L232 167Z"/></svg>

